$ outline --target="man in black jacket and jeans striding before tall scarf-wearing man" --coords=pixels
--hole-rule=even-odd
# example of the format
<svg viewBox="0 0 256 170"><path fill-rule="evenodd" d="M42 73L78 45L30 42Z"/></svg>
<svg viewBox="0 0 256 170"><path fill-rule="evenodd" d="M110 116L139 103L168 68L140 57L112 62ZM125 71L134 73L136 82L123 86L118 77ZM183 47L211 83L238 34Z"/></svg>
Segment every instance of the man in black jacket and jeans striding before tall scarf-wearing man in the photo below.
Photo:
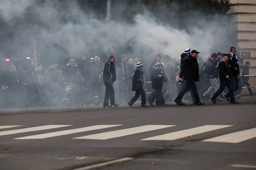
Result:
<svg viewBox="0 0 256 170"><path fill-rule="evenodd" d="M228 61L228 54L223 54L223 60L220 60L219 62L219 70L220 70L220 89L214 93L214 95L211 98L211 101L213 104L216 103L216 98L220 95L220 93L225 89L225 87L228 87L229 90L229 97L230 97L230 102L233 104L237 104L235 98L234 98L234 91L230 80L231 76L231 69L232 66L230 65L230 62Z"/></svg>

